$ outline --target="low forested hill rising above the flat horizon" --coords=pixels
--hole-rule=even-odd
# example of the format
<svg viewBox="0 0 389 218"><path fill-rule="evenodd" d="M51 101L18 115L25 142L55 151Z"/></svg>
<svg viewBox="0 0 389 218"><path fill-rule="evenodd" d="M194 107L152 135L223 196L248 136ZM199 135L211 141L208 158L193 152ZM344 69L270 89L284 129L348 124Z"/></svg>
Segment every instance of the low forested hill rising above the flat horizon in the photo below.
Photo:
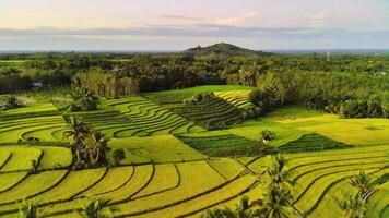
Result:
<svg viewBox="0 0 389 218"><path fill-rule="evenodd" d="M209 47L194 47L187 49L179 55L187 55L193 57L210 57L210 56L270 56L272 53L263 51L254 51L245 48L240 48L231 44L215 44Z"/></svg>

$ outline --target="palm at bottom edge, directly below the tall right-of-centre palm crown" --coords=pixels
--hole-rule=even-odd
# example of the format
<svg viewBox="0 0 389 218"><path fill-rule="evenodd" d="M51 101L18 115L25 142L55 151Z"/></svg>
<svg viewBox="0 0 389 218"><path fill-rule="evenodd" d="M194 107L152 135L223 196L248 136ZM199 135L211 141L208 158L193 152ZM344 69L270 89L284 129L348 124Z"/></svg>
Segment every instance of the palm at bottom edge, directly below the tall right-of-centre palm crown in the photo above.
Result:
<svg viewBox="0 0 389 218"><path fill-rule="evenodd" d="M292 205L292 194L287 189L278 185L268 185L267 194L260 202L260 208L256 210L255 217L288 218L296 210Z"/></svg>

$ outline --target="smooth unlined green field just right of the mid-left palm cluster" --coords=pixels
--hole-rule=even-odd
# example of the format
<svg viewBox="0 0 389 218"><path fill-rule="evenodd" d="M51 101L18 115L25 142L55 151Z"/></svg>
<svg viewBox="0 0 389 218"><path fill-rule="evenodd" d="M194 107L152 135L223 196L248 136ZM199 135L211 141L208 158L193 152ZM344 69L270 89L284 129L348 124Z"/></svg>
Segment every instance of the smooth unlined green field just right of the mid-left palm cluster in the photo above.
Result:
<svg viewBox="0 0 389 218"><path fill-rule="evenodd" d="M205 158L173 135L114 138L109 142L109 147L125 149L126 159L122 164L181 162Z"/></svg>

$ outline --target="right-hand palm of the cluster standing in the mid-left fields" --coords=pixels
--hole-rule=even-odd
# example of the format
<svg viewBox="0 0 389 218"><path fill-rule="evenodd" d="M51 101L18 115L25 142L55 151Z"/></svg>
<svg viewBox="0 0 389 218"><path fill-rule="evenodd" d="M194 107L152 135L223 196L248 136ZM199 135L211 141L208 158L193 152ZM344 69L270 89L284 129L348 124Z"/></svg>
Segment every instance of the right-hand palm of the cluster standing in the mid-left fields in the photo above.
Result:
<svg viewBox="0 0 389 218"><path fill-rule="evenodd" d="M95 166L107 162L106 154L110 148L108 147L108 140L101 132L91 132L86 136L85 149L91 165Z"/></svg>

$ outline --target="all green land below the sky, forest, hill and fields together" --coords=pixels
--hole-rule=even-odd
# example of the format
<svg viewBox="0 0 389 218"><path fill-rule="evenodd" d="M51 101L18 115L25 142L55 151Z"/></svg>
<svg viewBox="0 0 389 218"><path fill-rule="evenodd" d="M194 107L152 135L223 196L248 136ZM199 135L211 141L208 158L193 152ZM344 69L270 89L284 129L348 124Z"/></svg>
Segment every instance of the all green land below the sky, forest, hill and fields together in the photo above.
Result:
<svg viewBox="0 0 389 218"><path fill-rule="evenodd" d="M388 217L385 56L0 57L1 217Z"/></svg>

